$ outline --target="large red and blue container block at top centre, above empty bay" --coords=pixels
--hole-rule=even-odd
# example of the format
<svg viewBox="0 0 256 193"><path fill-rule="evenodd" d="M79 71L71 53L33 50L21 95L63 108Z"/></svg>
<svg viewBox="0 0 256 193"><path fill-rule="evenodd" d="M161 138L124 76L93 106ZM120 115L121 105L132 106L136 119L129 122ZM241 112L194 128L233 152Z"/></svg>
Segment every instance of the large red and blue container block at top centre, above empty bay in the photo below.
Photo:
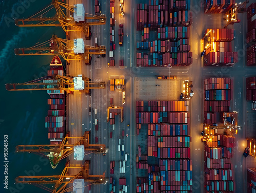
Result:
<svg viewBox="0 0 256 193"><path fill-rule="evenodd" d="M191 24L189 10L190 0L153 0L148 6L137 5L137 30L142 31L141 41L136 45L137 67L189 66L193 62L188 40ZM152 30L157 30L157 33Z"/></svg>

